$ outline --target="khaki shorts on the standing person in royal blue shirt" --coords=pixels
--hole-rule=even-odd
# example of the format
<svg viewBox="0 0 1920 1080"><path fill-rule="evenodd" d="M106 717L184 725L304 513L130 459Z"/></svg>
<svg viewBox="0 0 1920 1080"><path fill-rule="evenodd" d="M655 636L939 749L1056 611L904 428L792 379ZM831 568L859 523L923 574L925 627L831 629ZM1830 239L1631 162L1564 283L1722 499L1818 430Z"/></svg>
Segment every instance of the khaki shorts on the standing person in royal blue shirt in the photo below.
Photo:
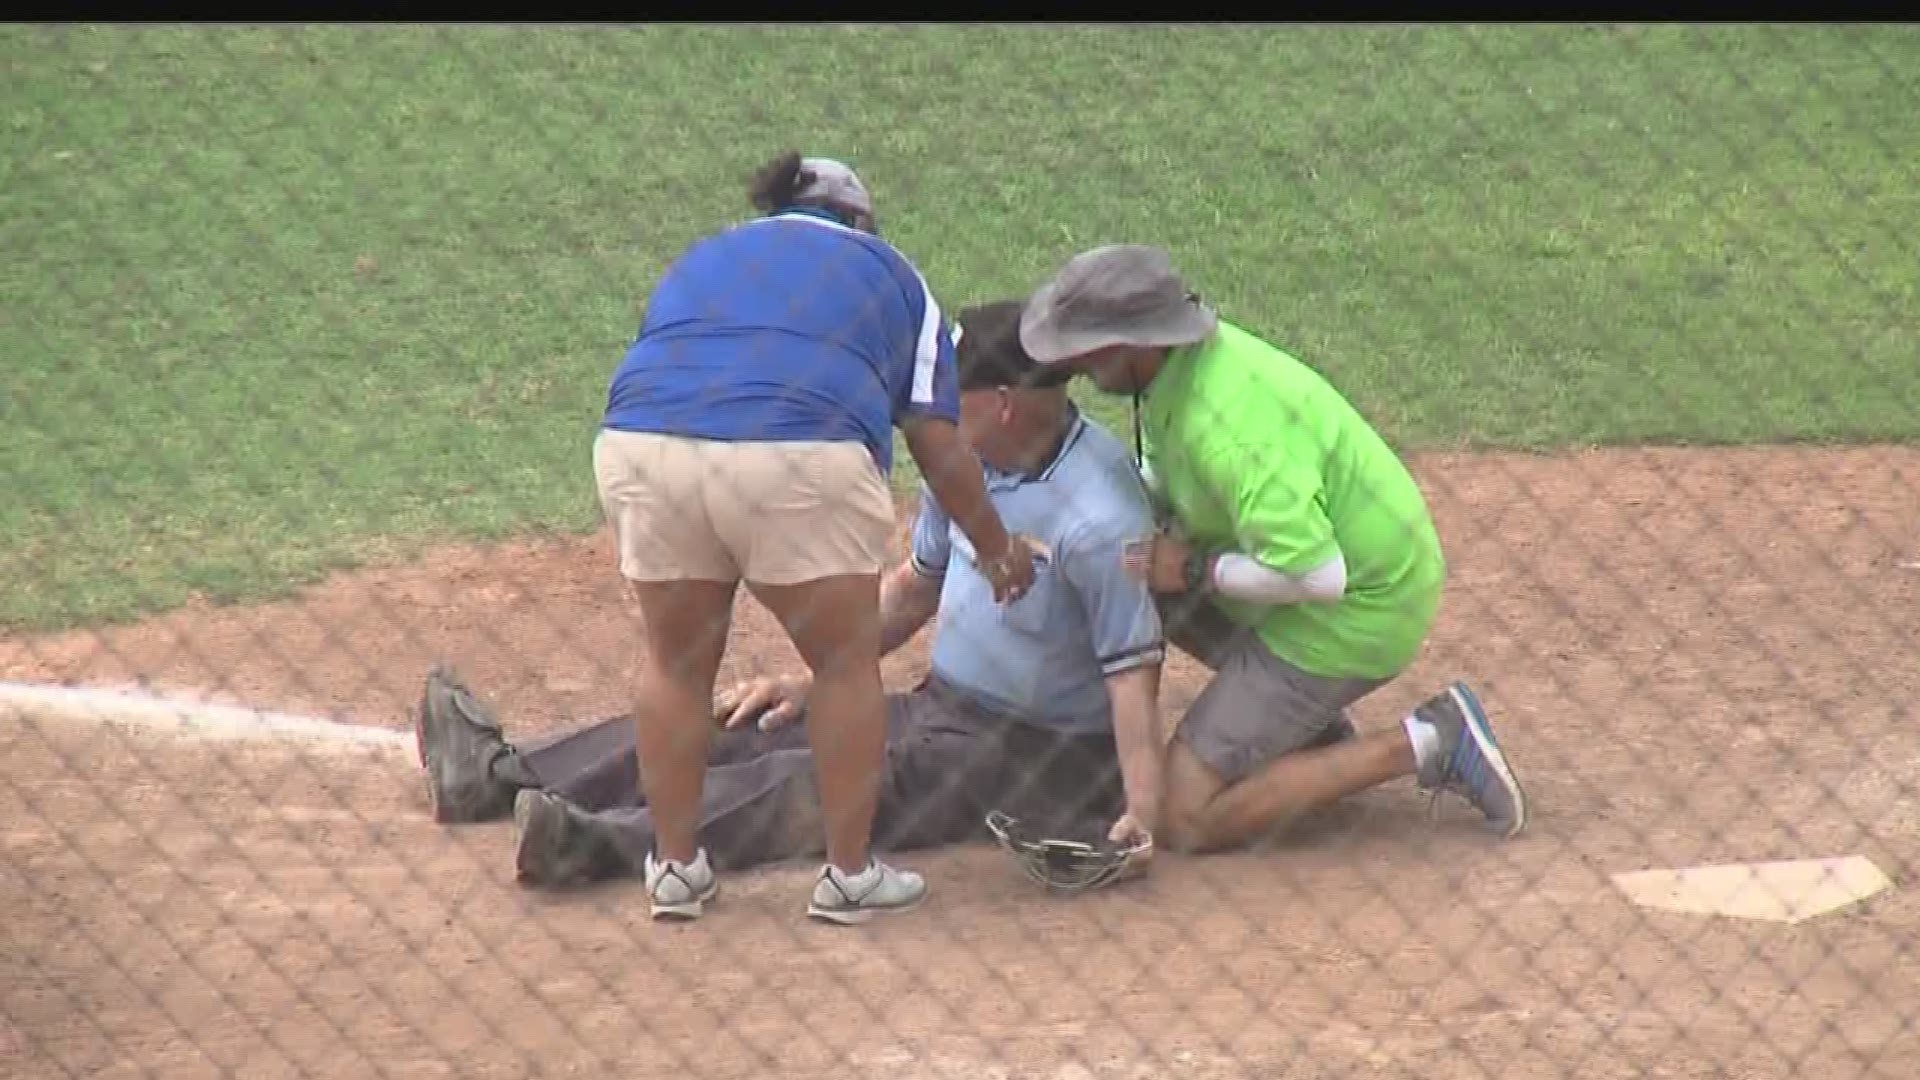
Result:
<svg viewBox="0 0 1920 1080"><path fill-rule="evenodd" d="M893 492L858 442L601 429L593 479L628 580L877 575L893 542Z"/></svg>

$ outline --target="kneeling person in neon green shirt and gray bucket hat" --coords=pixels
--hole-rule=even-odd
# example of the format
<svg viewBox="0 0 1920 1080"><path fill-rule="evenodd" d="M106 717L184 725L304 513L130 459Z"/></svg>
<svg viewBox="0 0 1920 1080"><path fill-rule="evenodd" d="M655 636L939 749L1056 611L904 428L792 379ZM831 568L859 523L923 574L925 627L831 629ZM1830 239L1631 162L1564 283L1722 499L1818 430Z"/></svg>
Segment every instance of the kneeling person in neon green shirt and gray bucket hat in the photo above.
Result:
<svg viewBox="0 0 1920 1080"><path fill-rule="evenodd" d="M1396 730L1346 717L1419 653L1446 557L1413 477L1332 384L1140 244L1075 256L1027 300L1020 340L1133 396L1142 480L1177 525L1125 555L1167 640L1213 669L1167 748L1167 846L1235 847L1402 776L1521 832L1526 798L1465 682Z"/></svg>

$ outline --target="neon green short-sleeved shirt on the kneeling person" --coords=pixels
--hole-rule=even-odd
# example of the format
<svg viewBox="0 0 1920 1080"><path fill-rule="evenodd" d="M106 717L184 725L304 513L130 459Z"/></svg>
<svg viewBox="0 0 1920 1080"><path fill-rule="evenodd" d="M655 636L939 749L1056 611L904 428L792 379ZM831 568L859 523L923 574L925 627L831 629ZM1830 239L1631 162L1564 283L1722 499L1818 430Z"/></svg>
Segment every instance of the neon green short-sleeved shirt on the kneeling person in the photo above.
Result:
<svg viewBox="0 0 1920 1080"><path fill-rule="evenodd" d="M1215 596L1221 611L1309 675L1392 678L1413 661L1440 609L1440 536L1405 465L1317 371L1221 321L1171 350L1140 427L1192 544L1288 575L1346 557L1338 603Z"/></svg>

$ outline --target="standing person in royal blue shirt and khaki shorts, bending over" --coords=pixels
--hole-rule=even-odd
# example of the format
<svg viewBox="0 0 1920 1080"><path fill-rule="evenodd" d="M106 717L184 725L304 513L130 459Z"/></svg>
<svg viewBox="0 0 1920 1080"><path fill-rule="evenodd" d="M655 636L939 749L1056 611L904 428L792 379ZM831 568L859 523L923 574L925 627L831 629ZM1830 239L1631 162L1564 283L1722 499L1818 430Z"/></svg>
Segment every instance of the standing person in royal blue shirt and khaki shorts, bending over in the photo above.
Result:
<svg viewBox="0 0 1920 1080"><path fill-rule="evenodd" d="M870 853L887 707L879 571L893 429L981 553L996 601L1033 582L958 434L952 338L925 279L874 231L847 165L787 152L760 217L691 244L655 286L593 444L620 573L645 619L634 692L655 917L718 888L697 844L714 676L747 582L814 675L826 865L808 913L858 920L925 896Z"/></svg>

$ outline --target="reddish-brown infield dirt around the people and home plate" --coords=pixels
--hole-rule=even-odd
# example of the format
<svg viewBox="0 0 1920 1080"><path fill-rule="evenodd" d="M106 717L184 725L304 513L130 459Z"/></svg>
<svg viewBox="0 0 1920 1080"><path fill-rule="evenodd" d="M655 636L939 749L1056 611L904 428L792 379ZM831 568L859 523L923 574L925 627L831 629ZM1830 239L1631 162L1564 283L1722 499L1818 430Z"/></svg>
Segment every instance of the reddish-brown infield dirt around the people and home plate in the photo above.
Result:
<svg viewBox="0 0 1920 1080"><path fill-rule="evenodd" d="M1482 690L1534 803L1482 836L1411 784L1256 851L1039 896L985 847L931 901L701 922L549 896L511 824L434 826L411 757L0 713L8 1076L1920 1076L1920 450L1415 459L1452 582L1396 721ZM893 686L924 640L887 663ZM148 684L401 728L434 659L511 732L620 711L605 538L440 552L298 601L0 640L0 678ZM741 605L732 675L793 665ZM1167 709L1198 690L1179 657ZM1620 871L1864 853L1795 926L1644 911Z"/></svg>

